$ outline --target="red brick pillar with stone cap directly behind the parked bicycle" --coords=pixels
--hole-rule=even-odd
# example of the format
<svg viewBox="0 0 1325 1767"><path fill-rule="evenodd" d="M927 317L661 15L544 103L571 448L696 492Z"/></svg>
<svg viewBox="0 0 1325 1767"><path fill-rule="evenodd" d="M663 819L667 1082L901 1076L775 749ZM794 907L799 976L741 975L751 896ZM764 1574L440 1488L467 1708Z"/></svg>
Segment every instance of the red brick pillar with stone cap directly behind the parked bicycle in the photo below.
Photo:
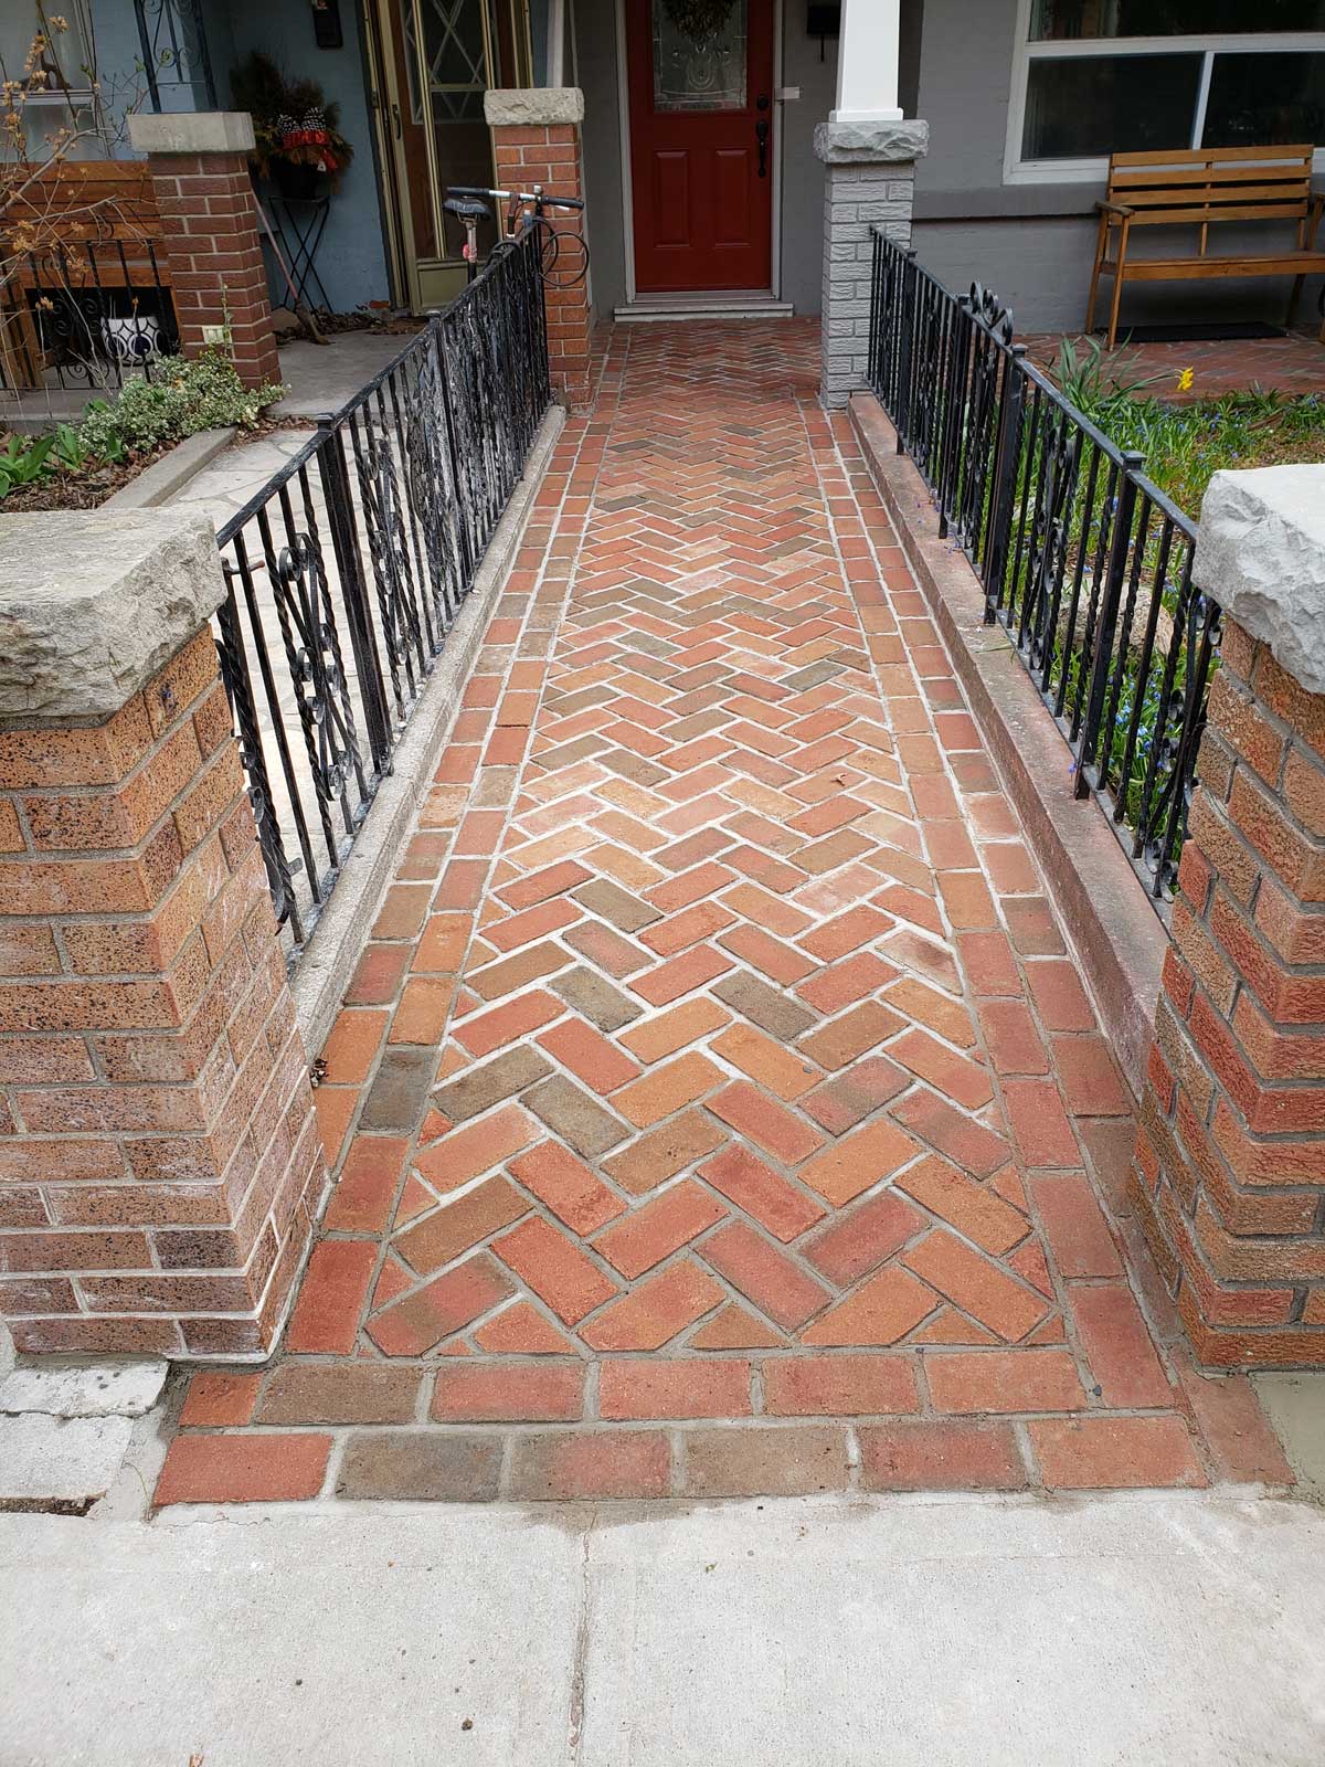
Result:
<svg viewBox="0 0 1325 1767"><path fill-rule="evenodd" d="M498 186L530 191L542 184L556 196L583 198L579 124L585 94L578 87L495 88L484 92L482 110L493 131ZM548 219L560 233L583 231L588 239L583 214L553 210ZM544 290L553 392L571 410L583 410L588 405L588 276L571 288L556 288L555 279L556 272Z"/></svg>

